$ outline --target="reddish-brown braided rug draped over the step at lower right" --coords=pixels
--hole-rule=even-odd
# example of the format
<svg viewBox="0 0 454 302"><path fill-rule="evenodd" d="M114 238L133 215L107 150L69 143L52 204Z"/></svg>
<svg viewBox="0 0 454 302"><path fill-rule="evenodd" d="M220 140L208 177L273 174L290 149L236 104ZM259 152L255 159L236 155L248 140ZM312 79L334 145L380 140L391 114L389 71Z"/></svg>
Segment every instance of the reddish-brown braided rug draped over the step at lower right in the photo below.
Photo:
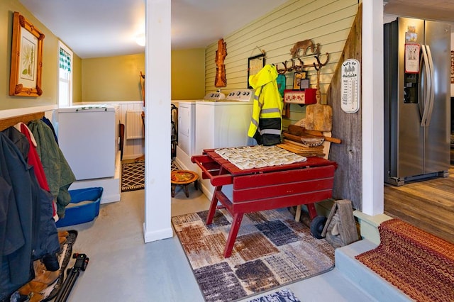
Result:
<svg viewBox="0 0 454 302"><path fill-rule="evenodd" d="M399 219L382 223L380 245L356 256L415 301L454 301L454 245Z"/></svg>

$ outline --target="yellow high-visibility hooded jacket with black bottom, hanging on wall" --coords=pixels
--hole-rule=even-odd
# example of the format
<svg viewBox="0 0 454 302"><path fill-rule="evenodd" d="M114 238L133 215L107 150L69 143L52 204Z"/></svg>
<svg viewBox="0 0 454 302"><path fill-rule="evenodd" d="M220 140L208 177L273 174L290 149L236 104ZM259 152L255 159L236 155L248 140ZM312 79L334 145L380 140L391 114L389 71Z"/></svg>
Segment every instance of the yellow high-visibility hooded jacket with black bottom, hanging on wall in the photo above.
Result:
<svg viewBox="0 0 454 302"><path fill-rule="evenodd" d="M258 145L281 142L283 103L276 79L277 69L272 65L265 65L258 74L249 77L255 94L248 136L255 138Z"/></svg>

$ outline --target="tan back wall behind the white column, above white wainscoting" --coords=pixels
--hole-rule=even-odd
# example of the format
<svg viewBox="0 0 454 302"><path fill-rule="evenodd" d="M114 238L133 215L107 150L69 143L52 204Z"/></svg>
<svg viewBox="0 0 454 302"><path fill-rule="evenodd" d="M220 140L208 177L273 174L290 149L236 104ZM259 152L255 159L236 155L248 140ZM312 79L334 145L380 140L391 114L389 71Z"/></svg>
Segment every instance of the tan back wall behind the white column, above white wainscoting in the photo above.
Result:
<svg viewBox="0 0 454 302"><path fill-rule="evenodd" d="M204 48L172 51L170 68L172 99L204 96ZM83 59L82 101L140 101L140 72L145 73L144 54Z"/></svg>

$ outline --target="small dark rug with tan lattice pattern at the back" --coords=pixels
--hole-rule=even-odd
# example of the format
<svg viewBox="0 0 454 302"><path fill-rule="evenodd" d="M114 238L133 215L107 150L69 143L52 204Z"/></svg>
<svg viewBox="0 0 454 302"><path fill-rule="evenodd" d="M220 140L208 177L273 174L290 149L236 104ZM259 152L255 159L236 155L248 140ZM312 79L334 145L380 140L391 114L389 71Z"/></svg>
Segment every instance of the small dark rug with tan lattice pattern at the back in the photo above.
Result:
<svg viewBox="0 0 454 302"><path fill-rule="evenodd" d="M175 162L170 164L171 171L178 170ZM145 188L145 161L123 162L121 164L121 191L135 191Z"/></svg>

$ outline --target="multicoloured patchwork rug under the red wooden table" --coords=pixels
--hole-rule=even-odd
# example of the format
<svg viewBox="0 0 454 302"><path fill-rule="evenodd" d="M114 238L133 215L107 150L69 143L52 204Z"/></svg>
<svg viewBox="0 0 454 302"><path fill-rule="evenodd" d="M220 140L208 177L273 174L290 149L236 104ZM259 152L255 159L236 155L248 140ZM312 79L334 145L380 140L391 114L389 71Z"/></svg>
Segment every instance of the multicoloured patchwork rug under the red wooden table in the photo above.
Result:
<svg viewBox="0 0 454 302"><path fill-rule="evenodd" d="M334 249L312 237L306 225L282 208L246 214L232 256L223 257L231 216L208 211L172 218L172 224L206 301L236 301L328 272Z"/></svg>

